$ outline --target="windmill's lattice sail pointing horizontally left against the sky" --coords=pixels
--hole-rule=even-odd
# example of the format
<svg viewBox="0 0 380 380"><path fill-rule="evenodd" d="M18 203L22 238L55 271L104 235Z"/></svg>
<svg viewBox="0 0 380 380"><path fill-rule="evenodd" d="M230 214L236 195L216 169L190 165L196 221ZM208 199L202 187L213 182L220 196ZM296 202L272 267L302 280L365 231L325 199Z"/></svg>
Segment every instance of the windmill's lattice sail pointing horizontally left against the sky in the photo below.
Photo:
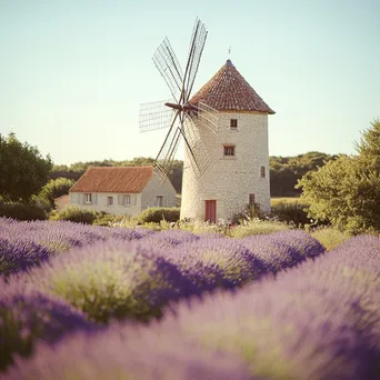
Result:
<svg viewBox="0 0 380 380"><path fill-rule="evenodd" d="M139 130L140 132L153 131L157 129L169 128L174 112L164 106L170 100L156 101L140 104Z"/></svg>

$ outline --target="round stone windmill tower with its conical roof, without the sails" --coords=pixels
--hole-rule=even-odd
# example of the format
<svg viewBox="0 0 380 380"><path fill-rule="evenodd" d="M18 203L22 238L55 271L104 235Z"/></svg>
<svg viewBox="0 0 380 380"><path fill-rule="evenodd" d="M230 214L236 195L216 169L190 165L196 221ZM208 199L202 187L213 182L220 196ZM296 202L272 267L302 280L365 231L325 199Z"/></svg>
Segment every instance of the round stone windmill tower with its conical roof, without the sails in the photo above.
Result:
<svg viewBox="0 0 380 380"><path fill-rule="evenodd" d="M230 220L247 204L270 211L268 114L274 111L258 96L230 60L191 99L218 110L217 134L196 127L211 164L199 178L186 150L181 218Z"/></svg>

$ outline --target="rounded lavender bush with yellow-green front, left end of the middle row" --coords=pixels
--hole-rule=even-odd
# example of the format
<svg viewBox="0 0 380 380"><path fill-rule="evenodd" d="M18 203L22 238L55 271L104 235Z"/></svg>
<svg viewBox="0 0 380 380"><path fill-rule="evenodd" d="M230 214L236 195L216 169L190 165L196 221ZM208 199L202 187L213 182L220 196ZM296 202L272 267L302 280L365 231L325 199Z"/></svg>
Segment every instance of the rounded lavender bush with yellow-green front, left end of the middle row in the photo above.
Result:
<svg viewBox="0 0 380 380"><path fill-rule="evenodd" d="M97 322L160 317L162 306L196 292L163 254L118 240L52 258L20 281L62 297Z"/></svg>

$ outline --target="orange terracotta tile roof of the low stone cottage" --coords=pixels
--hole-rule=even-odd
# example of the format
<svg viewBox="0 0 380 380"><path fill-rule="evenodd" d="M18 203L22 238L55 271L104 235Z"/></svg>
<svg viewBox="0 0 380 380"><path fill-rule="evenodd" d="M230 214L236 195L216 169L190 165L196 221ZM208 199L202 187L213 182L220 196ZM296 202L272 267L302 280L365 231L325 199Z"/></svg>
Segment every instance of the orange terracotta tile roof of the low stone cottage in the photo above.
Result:
<svg viewBox="0 0 380 380"><path fill-rule="evenodd" d="M70 192L141 192L153 167L90 167Z"/></svg>

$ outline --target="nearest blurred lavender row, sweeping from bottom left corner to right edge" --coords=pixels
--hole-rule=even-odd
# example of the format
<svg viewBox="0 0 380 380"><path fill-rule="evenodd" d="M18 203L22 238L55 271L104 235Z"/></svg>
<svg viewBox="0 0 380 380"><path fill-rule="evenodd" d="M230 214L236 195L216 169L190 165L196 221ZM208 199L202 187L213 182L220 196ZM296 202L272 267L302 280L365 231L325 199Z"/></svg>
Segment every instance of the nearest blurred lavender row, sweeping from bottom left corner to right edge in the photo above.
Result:
<svg viewBox="0 0 380 380"><path fill-rule="evenodd" d="M181 302L159 323L39 343L4 379L377 380L379 274L380 239L354 238L276 281Z"/></svg>

